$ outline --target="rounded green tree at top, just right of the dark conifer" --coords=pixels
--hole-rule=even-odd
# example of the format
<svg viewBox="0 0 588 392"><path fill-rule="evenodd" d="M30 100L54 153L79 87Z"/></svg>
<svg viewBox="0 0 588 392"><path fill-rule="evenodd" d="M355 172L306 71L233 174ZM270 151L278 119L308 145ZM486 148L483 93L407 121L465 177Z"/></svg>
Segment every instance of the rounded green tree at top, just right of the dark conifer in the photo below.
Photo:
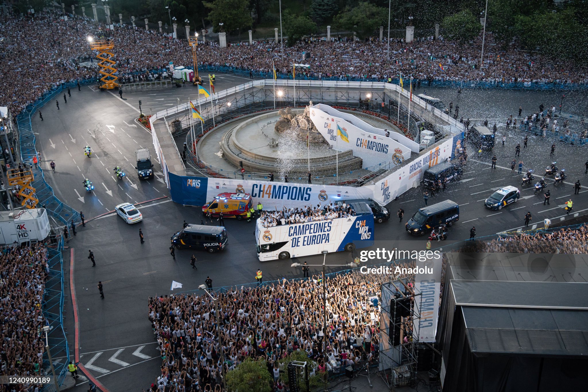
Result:
<svg viewBox="0 0 588 392"><path fill-rule="evenodd" d="M386 18L384 18L386 16ZM353 30L361 38L371 35L378 26L381 26L386 19L387 23L388 10L370 4L369 2L360 2L355 8L345 7L339 15L335 16L335 25L343 29ZM355 26L357 26L355 28Z"/></svg>

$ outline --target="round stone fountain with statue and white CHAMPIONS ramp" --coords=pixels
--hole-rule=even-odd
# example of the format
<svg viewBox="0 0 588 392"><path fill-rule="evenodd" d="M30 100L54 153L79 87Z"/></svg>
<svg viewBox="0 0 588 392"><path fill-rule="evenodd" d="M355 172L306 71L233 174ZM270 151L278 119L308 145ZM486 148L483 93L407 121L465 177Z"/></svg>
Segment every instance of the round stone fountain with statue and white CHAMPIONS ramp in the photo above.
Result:
<svg viewBox="0 0 588 392"><path fill-rule="evenodd" d="M305 177L308 172L330 176L368 171L387 162L401 165L411 152L419 152L418 143L383 119L312 101L305 108L248 116L221 132L220 138L210 135L198 144L202 160L214 150L235 171L242 163L246 172L275 173L276 180Z"/></svg>

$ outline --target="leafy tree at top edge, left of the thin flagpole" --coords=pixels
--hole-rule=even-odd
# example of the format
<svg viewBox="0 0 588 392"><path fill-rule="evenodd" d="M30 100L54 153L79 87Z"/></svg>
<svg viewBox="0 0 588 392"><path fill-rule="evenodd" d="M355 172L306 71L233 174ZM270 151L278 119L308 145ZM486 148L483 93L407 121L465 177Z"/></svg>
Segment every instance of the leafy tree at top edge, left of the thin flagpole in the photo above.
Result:
<svg viewBox="0 0 588 392"><path fill-rule="evenodd" d="M241 0L214 0L212 3L202 2L210 9L208 20L212 22L215 32L220 31L219 23L223 24L225 31L235 31L253 24L249 4Z"/></svg>

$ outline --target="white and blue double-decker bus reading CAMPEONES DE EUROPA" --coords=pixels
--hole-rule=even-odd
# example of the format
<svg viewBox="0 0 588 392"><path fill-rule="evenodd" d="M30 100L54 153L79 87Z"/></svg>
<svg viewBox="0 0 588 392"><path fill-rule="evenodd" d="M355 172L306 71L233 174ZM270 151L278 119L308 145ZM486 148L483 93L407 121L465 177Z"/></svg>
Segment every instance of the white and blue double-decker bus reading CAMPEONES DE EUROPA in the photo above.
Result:
<svg viewBox="0 0 588 392"><path fill-rule="evenodd" d="M351 251L373 245L373 213L366 203L350 203L354 216L263 227L255 225L259 260L286 260L290 257L320 254L323 250Z"/></svg>

